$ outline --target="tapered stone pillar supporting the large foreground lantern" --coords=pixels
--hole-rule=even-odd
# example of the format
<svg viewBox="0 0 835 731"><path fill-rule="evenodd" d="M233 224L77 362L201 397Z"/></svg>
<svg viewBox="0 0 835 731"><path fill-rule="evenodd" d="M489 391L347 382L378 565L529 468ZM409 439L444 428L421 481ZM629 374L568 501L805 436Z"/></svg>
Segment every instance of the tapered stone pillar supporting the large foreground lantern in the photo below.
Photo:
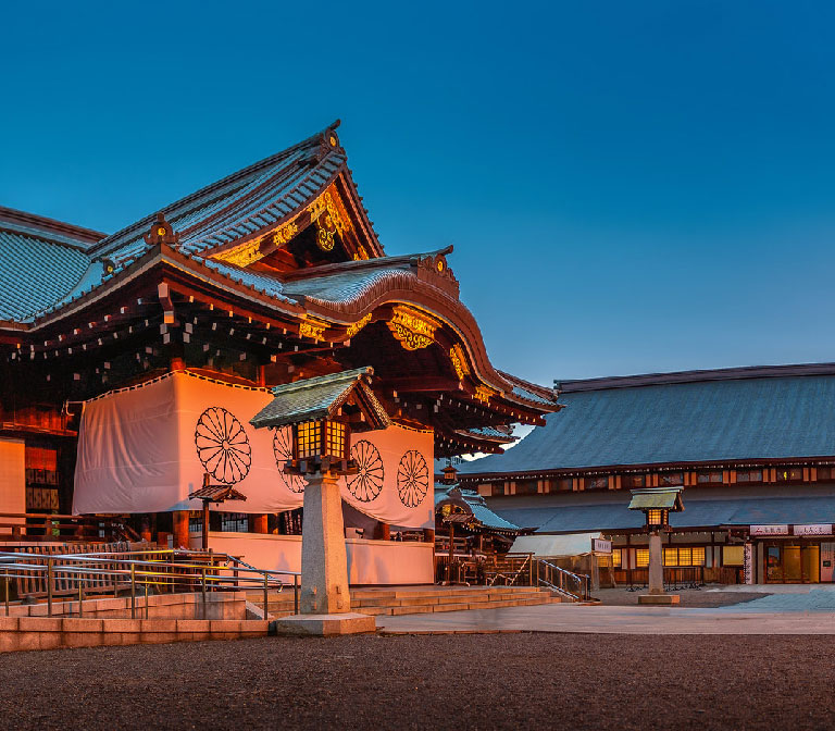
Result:
<svg viewBox="0 0 835 731"><path fill-rule="evenodd" d="M337 475L316 472L308 479L301 536L301 614L350 611L342 498Z"/></svg>

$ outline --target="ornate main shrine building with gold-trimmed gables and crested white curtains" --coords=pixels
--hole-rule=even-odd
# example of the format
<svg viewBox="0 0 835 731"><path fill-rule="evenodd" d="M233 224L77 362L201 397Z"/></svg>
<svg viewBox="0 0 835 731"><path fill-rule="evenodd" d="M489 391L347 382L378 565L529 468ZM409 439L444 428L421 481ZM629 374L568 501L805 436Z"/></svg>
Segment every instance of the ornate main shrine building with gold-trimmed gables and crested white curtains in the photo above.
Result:
<svg viewBox="0 0 835 731"><path fill-rule="evenodd" d="M434 459L500 451L560 407L490 362L451 247L386 255L337 125L112 234L0 208L5 549L199 547L199 497L222 494L208 546L298 571L290 429L250 421L309 380L288 402L325 393L354 420L351 583L434 580ZM376 431L340 406L348 383L385 410Z"/></svg>

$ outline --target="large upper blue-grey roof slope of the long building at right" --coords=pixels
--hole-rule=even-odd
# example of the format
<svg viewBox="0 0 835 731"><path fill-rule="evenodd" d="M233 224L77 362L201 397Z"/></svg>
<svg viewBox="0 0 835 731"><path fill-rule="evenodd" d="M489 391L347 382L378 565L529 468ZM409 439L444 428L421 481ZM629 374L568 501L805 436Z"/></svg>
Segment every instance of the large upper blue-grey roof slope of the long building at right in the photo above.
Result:
<svg viewBox="0 0 835 731"><path fill-rule="evenodd" d="M462 463L460 473L835 455L835 364L708 373L564 388L565 409L549 414L546 426L502 455Z"/></svg>

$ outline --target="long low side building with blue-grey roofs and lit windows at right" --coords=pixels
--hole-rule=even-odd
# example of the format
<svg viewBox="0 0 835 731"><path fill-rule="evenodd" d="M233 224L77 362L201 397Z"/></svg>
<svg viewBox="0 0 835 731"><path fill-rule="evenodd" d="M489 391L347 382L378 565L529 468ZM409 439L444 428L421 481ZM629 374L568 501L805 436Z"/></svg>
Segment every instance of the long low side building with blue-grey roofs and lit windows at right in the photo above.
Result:
<svg viewBox="0 0 835 731"><path fill-rule="evenodd" d="M670 583L835 581L835 363L563 381L565 409L502 455L458 464L462 486L537 532L547 556L611 541L619 584L647 580L630 490L682 486ZM589 548L585 548L589 550Z"/></svg>

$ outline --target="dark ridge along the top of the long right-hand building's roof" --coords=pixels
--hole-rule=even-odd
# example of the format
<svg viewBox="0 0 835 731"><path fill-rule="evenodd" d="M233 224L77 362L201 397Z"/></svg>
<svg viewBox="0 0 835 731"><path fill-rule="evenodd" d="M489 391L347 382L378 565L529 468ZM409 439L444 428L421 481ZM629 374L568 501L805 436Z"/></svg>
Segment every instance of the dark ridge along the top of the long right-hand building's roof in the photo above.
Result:
<svg viewBox="0 0 835 731"><path fill-rule="evenodd" d="M672 385L676 383L700 383L706 381L738 381L745 379L774 379L809 375L835 375L835 362L736 366L732 368L670 371L666 373L640 373L634 375L611 375L566 381L556 379L553 385L554 388L562 393L574 393L581 391L606 391L609 388Z"/></svg>

